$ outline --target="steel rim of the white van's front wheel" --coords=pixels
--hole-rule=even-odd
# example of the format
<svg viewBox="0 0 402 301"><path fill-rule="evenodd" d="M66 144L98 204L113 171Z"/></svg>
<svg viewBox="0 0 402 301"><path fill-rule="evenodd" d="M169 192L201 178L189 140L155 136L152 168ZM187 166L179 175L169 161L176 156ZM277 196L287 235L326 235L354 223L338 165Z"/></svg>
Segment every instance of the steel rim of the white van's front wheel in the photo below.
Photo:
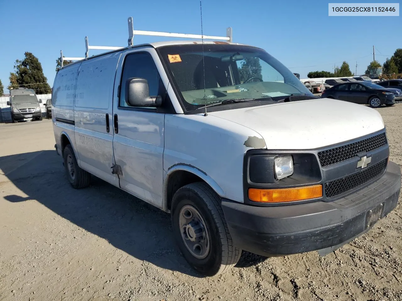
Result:
<svg viewBox="0 0 402 301"><path fill-rule="evenodd" d="M181 238L191 255L198 259L207 257L211 249L209 232L198 210L191 205L183 206L178 222Z"/></svg>

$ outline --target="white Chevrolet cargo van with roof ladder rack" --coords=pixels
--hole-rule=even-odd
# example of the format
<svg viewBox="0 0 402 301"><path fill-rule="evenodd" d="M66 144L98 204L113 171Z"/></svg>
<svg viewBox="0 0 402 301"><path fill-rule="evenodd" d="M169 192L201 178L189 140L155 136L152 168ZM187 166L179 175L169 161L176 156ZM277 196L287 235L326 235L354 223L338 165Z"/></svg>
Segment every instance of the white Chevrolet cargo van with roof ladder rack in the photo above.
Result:
<svg viewBox="0 0 402 301"><path fill-rule="evenodd" d="M86 40L87 57L58 71L55 147L72 187L95 175L170 213L200 273L242 250L328 254L396 207L401 172L376 110L312 96L230 35L133 45L133 33L92 57Z"/></svg>

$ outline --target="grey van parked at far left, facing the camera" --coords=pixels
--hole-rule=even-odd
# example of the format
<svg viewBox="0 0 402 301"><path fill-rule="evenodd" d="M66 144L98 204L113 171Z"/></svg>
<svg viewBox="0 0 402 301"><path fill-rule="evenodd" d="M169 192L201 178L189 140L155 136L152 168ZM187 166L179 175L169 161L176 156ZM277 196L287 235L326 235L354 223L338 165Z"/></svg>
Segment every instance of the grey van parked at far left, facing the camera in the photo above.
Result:
<svg viewBox="0 0 402 301"><path fill-rule="evenodd" d="M40 103L42 101L38 101L33 89L12 89L7 102L7 106L11 107L12 122L42 120Z"/></svg>

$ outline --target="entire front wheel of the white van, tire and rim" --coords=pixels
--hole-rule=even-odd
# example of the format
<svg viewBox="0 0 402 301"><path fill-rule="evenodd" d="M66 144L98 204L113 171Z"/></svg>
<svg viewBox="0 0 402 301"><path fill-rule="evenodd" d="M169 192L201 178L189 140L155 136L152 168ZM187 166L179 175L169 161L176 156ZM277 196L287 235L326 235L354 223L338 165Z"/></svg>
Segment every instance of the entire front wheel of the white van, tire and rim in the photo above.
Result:
<svg viewBox="0 0 402 301"><path fill-rule="evenodd" d="M239 260L219 196L205 183L178 189L172 201L174 237L189 264L205 276L221 274Z"/></svg>

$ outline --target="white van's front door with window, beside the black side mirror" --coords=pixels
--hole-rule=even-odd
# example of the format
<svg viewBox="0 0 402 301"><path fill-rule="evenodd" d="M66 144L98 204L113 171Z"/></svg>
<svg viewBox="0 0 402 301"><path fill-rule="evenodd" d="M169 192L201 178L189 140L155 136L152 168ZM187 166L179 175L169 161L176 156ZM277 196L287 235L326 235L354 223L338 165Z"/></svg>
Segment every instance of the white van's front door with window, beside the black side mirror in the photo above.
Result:
<svg viewBox="0 0 402 301"><path fill-rule="evenodd" d="M155 52L152 48L123 53L119 63L115 87L120 86L120 95L113 102L113 149L121 170L120 187L162 207L164 113L157 108L131 107L125 101L125 83L131 77L146 79L150 96L166 94L151 51Z"/></svg>

